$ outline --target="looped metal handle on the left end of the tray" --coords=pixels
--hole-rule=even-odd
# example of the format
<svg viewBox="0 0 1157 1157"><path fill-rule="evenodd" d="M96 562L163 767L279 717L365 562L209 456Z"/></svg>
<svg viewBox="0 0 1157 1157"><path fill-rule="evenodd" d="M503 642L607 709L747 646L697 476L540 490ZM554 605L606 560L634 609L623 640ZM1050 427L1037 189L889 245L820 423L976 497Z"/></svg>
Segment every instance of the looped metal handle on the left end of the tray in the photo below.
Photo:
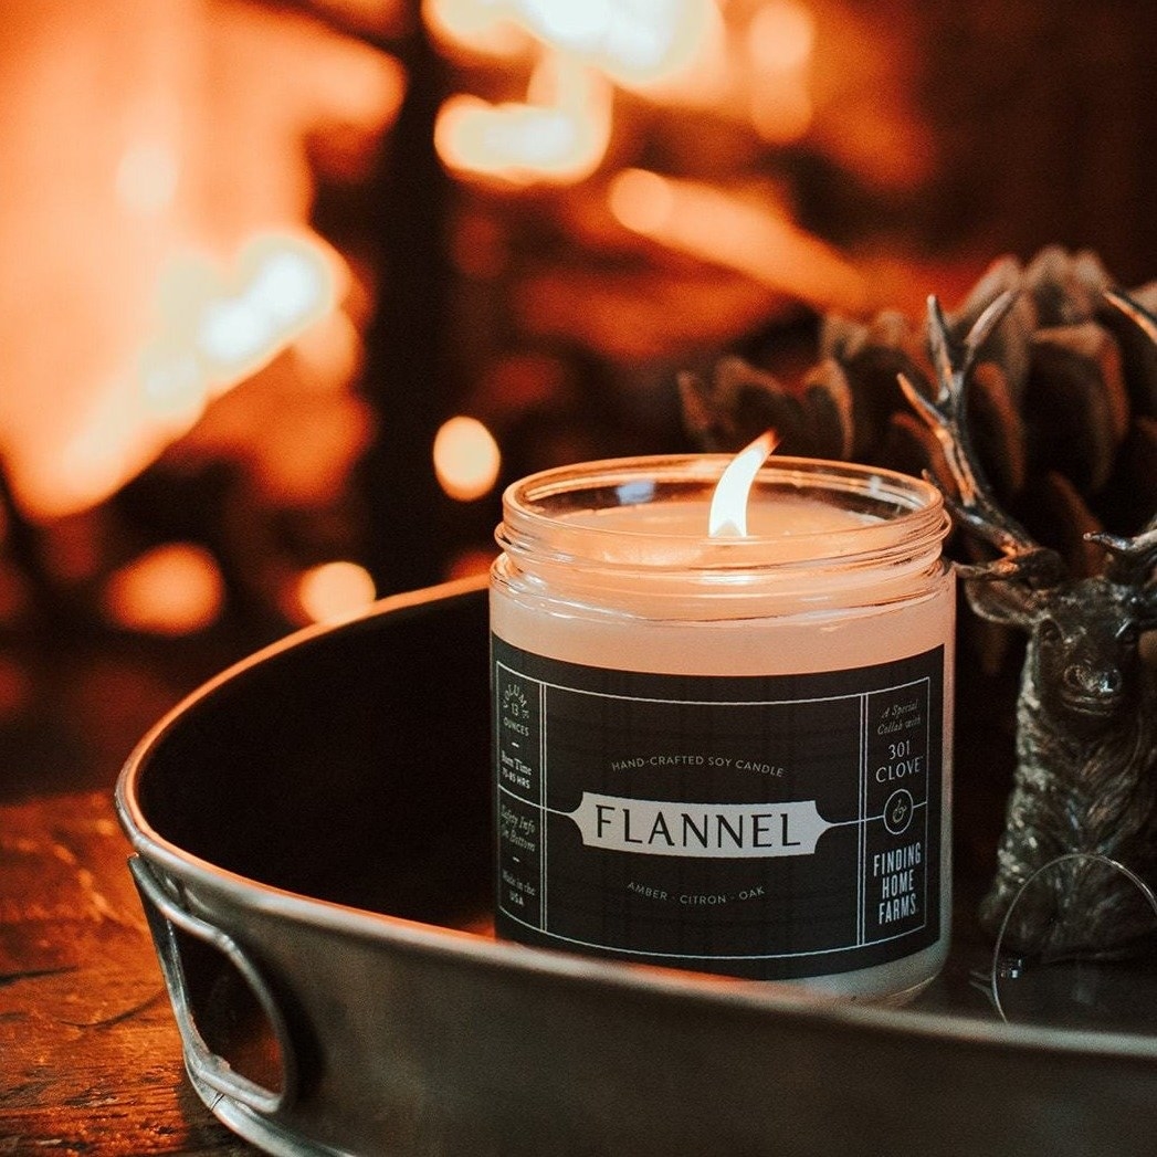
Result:
<svg viewBox="0 0 1157 1157"><path fill-rule="evenodd" d="M220 928L185 911L161 885L152 868L140 856L128 861L133 882L153 935L161 973L172 1004L174 1016L185 1052L185 1063L194 1083L208 1085L261 1114L286 1108L296 1096L297 1064L285 1017L260 972L237 942ZM206 1042L194 1016L194 1002L186 977L177 930L215 949L244 980L268 1023L281 1069L280 1089L268 1089L239 1073Z"/></svg>

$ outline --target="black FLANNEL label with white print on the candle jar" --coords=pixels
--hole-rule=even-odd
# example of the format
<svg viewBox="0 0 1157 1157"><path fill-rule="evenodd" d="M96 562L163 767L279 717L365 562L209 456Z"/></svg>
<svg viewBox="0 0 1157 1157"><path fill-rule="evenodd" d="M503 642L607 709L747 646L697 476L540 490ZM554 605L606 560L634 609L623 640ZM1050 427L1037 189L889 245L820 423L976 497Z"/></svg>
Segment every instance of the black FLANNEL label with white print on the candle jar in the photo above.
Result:
<svg viewBox="0 0 1157 1157"><path fill-rule="evenodd" d="M738 977L939 937L944 651L648 675L493 639L498 930Z"/></svg>

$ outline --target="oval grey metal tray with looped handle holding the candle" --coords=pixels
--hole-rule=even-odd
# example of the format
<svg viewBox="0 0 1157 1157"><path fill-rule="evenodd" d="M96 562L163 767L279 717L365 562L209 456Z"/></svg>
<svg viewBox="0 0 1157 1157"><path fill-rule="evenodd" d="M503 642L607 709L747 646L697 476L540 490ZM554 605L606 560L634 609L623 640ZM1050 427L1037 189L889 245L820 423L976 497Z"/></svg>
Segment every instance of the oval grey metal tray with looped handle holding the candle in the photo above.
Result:
<svg viewBox="0 0 1157 1157"><path fill-rule="evenodd" d="M1152 1152L1157 1041L1002 1023L967 935L902 1009L495 941L488 715L472 581L261 651L128 760L118 812L185 1063L241 1136L292 1155Z"/></svg>

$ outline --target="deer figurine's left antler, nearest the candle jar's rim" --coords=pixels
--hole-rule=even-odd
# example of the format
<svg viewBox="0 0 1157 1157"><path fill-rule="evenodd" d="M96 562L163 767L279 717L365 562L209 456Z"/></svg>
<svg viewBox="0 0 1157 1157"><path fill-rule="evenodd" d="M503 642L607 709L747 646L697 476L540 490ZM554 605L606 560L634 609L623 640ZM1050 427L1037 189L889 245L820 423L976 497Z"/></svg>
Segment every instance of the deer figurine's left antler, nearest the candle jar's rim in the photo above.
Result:
<svg viewBox="0 0 1157 1157"><path fill-rule="evenodd" d="M1002 558L979 567L961 568L972 578L1025 580L1030 587L1054 585L1061 577L1060 555L1038 545L1029 532L989 498L989 485L972 448L966 420L967 379L988 336L1003 320L1016 300L1002 293L977 318L963 341L952 336L939 301L928 299L928 344L938 385L935 399L921 393L908 378L898 375L908 403L928 423L944 451L957 496L945 501L957 518L996 547ZM935 481L935 479L934 479ZM943 488L943 487L942 487Z"/></svg>

